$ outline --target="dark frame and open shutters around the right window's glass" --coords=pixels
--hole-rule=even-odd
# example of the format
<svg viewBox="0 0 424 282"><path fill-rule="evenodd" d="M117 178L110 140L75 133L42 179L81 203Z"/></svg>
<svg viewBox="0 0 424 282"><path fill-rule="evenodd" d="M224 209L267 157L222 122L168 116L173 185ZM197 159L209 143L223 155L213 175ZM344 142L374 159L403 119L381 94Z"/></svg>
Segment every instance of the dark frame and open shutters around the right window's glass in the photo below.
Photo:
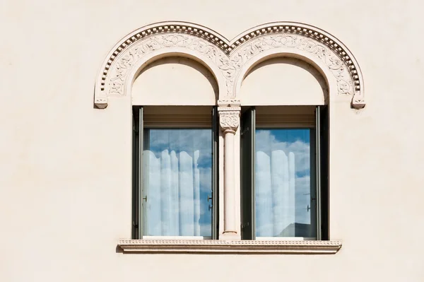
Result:
<svg viewBox="0 0 424 282"><path fill-rule="evenodd" d="M291 107L291 106L290 106ZM296 107L296 106L293 106ZM249 107L241 120L240 138L240 208L241 208L241 236L242 240L329 240L329 124L328 107L317 105L314 110L314 124L311 126L299 125L290 122L290 126L273 122L270 126L257 125L256 107ZM317 237L257 237L256 236L256 205L254 189L254 163L256 146L256 129L312 129L310 131L310 163L311 185L315 194L314 228ZM247 139L246 136L248 137ZM246 148L249 147L249 148ZM247 171L248 170L248 171ZM246 175L250 175L247 177ZM312 201L312 199L311 199Z"/></svg>

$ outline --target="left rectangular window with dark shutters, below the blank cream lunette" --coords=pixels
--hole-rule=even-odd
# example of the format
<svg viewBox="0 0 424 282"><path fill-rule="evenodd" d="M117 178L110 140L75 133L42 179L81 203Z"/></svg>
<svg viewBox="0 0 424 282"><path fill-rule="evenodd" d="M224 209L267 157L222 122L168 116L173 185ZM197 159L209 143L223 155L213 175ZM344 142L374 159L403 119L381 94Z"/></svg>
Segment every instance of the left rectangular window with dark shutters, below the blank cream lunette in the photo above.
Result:
<svg viewBox="0 0 424 282"><path fill-rule="evenodd" d="M133 237L215 239L216 107L134 107Z"/></svg>

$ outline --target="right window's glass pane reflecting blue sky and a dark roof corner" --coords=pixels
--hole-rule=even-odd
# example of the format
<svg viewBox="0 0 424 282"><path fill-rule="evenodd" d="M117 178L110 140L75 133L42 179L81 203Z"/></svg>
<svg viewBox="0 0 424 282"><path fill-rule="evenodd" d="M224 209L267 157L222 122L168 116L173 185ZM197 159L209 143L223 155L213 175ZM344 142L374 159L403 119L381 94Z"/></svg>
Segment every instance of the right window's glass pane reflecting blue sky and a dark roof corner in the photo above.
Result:
<svg viewBox="0 0 424 282"><path fill-rule="evenodd" d="M311 129L257 129L257 237L316 237Z"/></svg>

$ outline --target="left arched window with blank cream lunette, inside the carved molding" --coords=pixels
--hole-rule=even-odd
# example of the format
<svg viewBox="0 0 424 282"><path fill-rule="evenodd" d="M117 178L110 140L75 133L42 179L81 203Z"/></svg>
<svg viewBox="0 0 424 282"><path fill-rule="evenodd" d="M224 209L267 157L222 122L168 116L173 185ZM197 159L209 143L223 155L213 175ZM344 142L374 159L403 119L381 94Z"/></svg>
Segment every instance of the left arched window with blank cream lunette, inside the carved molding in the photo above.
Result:
<svg viewBox="0 0 424 282"><path fill-rule="evenodd" d="M132 87L134 239L217 239L216 80L185 57L148 64Z"/></svg>

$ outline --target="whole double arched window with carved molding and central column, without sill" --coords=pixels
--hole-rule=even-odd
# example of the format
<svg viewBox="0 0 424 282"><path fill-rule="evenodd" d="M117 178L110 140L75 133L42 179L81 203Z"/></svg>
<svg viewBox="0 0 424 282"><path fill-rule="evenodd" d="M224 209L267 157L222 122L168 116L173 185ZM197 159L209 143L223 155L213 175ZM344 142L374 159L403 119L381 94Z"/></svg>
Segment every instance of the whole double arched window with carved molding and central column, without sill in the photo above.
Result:
<svg viewBox="0 0 424 282"><path fill-rule="evenodd" d="M125 98L133 239L330 239L329 105L365 106L358 63L335 37L300 23L232 41L148 25L112 49L96 81L96 107Z"/></svg>

